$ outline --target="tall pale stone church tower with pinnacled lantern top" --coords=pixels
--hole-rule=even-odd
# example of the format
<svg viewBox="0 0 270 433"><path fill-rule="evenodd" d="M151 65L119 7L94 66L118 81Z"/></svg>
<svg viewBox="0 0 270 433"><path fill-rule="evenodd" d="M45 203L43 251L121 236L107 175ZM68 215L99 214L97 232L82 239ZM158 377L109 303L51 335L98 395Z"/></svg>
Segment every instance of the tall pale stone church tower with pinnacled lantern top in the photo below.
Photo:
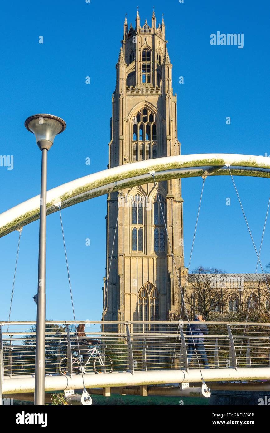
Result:
<svg viewBox="0 0 270 433"><path fill-rule="evenodd" d="M128 28L126 18L121 43L108 167L179 155L177 102L164 20L156 26L153 12L152 25L145 21L141 26L137 12L135 28L131 24ZM158 191L180 277L184 266L181 180L161 182ZM104 320L173 318L179 309L179 287L154 184L109 194L106 220Z"/></svg>

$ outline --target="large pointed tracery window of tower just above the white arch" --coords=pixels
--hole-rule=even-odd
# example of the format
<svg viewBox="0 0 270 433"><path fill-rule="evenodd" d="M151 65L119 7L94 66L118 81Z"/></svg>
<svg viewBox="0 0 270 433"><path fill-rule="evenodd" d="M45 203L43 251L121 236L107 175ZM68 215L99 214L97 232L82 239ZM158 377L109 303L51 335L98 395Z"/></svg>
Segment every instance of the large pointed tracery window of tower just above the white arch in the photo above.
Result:
<svg viewBox="0 0 270 433"><path fill-rule="evenodd" d="M149 108L143 107L133 117L131 135L133 161L157 158L156 116Z"/></svg>

